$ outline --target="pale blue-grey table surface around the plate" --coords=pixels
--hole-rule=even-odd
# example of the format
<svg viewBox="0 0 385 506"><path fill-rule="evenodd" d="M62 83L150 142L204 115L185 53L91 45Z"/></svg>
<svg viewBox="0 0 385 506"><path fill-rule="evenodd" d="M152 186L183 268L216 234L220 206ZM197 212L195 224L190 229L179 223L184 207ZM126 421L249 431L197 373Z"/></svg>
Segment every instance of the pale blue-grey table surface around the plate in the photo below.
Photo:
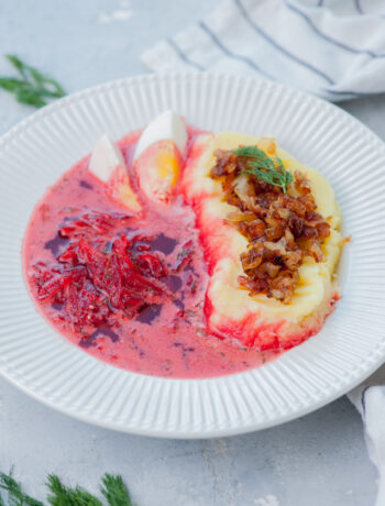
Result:
<svg viewBox="0 0 385 506"><path fill-rule="evenodd" d="M0 0L0 47L68 91L145 72L139 55L205 15L217 0ZM9 73L0 59L0 75ZM385 139L385 97L344 102ZM0 132L32 112L0 94ZM14 465L44 497L47 473L97 492L121 473L138 506L370 506L376 471L360 416L343 397L280 427L227 439L162 440L88 426L0 378L0 470Z"/></svg>

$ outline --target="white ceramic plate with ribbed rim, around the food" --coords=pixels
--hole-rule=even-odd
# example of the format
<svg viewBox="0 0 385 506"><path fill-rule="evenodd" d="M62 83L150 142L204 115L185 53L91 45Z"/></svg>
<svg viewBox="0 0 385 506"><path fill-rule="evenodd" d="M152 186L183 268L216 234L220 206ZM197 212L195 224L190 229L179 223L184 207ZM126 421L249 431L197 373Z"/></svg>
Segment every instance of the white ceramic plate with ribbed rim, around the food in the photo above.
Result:
<svg viewBox="0 0 385 506"><path fill-rule="evenodd" d="M274 134L337 193L352 242L343 299L322 331L276 361L212 380L165 380L107 365L62 339L24 286L21 242L45 188L103 132L119 139L173 108L199 128ZM0 371L79 419L143 435L226 436L284 422L333 400L385 358L385 145L340 109L234 76L148 75L87 89L0 140Z"/></svg>

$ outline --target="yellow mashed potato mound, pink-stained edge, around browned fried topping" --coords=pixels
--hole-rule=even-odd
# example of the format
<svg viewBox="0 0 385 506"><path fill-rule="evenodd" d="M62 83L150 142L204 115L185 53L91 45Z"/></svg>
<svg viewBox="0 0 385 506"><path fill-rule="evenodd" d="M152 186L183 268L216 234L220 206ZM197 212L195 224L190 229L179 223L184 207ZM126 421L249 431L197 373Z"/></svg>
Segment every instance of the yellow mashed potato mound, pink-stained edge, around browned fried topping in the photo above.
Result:
<svg viewBox="0 0 385 506"><path fill-rule="evenodd" d="M330 183L316 169L274 146L275 154L287 170L300 170L309 180L317 211L328 219L331 228L322 245L324 258L317 263L311 256L304 257L299 282L289 304L263 294L250 296L246 289L240 287L238 278L243 275L240 255L246 250L248 239L226 223L227 216L234 207L223 201L221 184L209 174L216 163L215 152L218 148L257 145L270 154L272 142L266 138L233 132L198 135L182 182L186 199L197 216L209 266L210 283L206 300L209 331L262 350L292 348L321 329L339 298L334 271L343 243L341 212Z"/></svg>

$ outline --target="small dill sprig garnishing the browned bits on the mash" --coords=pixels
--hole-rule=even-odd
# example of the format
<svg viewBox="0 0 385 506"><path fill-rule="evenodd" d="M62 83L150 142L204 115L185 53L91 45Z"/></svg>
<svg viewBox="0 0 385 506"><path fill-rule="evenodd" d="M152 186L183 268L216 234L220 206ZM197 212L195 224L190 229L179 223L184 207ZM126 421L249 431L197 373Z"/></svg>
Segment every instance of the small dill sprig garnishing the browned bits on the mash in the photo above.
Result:
<svg viewBox="0 0 385 506"><path fill-rule="evenodd" d="M286 170L280 158L277 156L271 158L256 146L238 147L233 153L235 156L248 158L245 174L278 186L286 194L287 186L293 182L293 175Z"/></svg>

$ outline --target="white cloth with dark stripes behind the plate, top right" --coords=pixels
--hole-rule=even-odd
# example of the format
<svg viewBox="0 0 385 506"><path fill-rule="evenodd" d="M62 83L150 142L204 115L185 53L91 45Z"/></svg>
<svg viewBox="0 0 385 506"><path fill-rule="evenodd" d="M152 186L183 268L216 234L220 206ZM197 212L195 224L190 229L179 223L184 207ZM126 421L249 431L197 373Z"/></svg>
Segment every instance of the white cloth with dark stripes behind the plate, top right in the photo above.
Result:
<svg viewBox="0 0 385 506"><path fill-rule="evenodd" d="M226 0L142 54L155 72L260 75L338 101L385 91L384 0Z"/></svg>

